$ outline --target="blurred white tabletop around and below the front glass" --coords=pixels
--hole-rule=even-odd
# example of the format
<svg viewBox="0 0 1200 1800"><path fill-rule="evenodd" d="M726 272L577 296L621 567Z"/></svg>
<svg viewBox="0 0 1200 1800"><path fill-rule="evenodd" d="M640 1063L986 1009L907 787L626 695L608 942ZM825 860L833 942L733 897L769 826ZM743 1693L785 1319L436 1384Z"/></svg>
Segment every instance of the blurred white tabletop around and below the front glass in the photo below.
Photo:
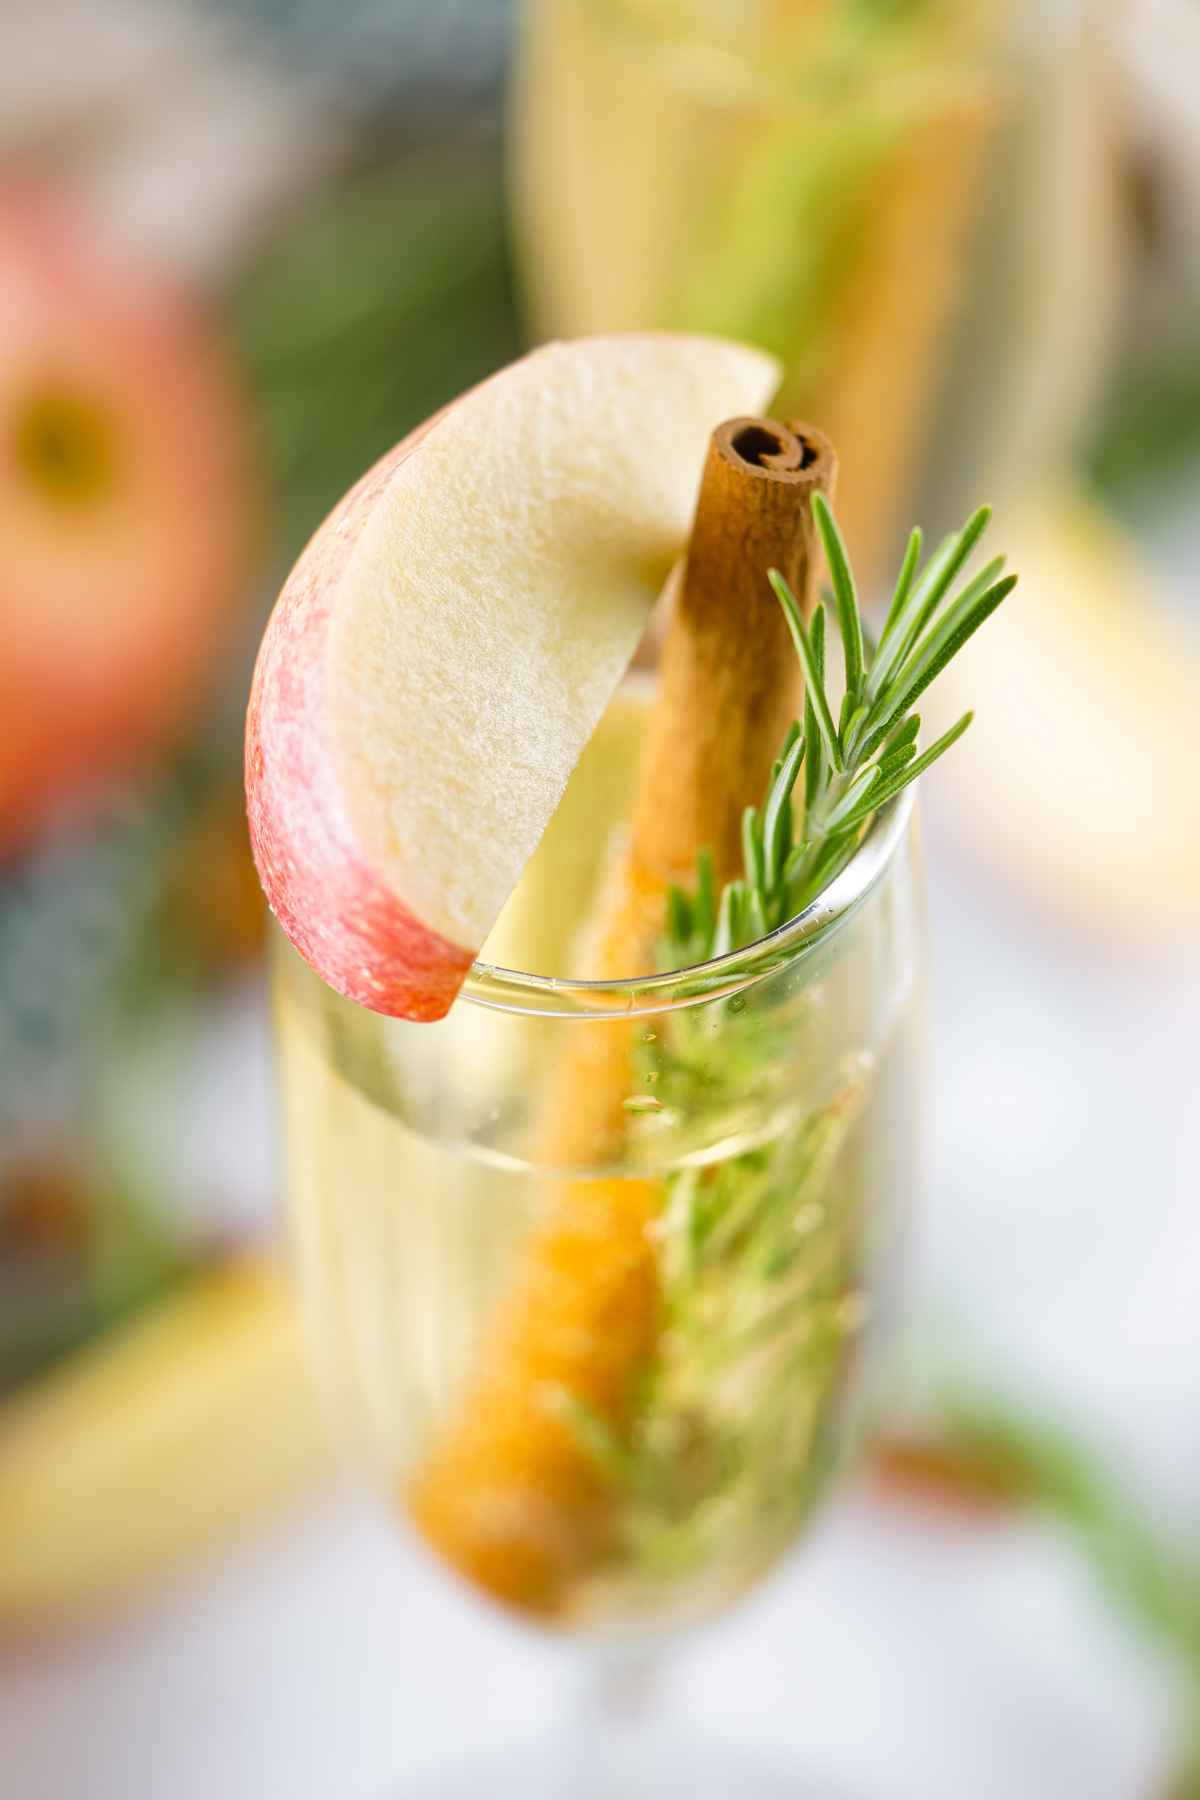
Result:
<svg viewBox="0 0 1200 1800"><path fill-rule="evenodd" d="M1195 1517L1195 956L1117 961L1029 918L955 864L930 812L937 1080L914 1312L954 1296L984 1373L1103 1426L1148 1501ZM407 1795L421 1769L545 1733L579 1674L349 1490L0 1667L14 1800ZM860 1496L678 1658L664 1699L691 1730L880 1800L1157 1800L1169 1744L1168 1674L1069 1548Z"/></svg>

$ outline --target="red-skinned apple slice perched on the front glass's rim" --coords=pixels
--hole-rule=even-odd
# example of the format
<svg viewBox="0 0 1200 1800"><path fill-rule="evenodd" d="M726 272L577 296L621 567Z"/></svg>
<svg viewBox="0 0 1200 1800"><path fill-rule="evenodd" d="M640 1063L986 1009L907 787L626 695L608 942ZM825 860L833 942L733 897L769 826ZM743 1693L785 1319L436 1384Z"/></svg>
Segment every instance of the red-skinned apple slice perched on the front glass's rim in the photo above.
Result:
<svg viewBox="0 0 1200 1800"><path fill-rule="evenodd" d="M709 434L775 382L718 338L549 344L320 527L259 652L246 797L272 909L338 994L450 1010L684 547Z"/></svg>

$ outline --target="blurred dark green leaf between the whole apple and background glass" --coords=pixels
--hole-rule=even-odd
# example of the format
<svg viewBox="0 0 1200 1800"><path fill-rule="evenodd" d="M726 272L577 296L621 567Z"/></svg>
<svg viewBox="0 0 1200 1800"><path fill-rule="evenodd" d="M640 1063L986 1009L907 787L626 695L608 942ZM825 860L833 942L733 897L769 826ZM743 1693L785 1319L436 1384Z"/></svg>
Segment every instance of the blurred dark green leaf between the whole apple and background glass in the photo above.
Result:
<svg viewBox="0 0 1200 1800"><path fill-rule="evenodd" d="M518 349L495 153L423 151L309 198L232 299L291 562L390 445Z"/></svg>

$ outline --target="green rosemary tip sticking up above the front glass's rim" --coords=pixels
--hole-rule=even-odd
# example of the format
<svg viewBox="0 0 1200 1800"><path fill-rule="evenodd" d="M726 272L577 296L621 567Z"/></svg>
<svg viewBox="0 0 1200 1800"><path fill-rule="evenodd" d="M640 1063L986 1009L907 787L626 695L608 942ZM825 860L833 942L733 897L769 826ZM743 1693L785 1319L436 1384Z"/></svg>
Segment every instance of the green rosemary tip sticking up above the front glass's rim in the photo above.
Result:
<svg viewBox="0 0 1200 1800"><path fill-rule="evenodd" d="M756 938L802 913L846 868L874 814L925 774L972 722L964 713L928 749L918 749L916 702L1016 585L997 556L952 589L981 536L990 509L981 506L921 567L914 531L896 580L878 643L862 617L842 533L824 495L813 517L829 563L831 592L804 625L795 594L779 574L770 583L783 607L804 671L804 718L784 738L761 806L741 823L743 873L714 895L712 859L702 851L693 893L667 896L664 967L684 968ZM837 713L826 688L826 619L842 646L844 697ZM804 769L801 837L795 837L795 787Z"/></svg>

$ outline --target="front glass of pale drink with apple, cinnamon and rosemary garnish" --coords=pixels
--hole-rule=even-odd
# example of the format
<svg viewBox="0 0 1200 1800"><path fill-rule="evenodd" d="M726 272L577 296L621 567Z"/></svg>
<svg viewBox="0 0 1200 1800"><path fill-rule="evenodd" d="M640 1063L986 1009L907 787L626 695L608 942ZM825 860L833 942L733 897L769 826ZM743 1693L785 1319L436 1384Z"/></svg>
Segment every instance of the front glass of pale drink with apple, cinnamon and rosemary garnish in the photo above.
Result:
<svg viewBox="0 0 1200 1800"><path fill-rule="evenodd" d="M918 1150L910 783L970 725L914 707L1013 585L981 508L867 632L779 373L500 371L317 533L250 698L331 1415L450 1570L579 1633L729 1602L853 1440Z"/></svg>

